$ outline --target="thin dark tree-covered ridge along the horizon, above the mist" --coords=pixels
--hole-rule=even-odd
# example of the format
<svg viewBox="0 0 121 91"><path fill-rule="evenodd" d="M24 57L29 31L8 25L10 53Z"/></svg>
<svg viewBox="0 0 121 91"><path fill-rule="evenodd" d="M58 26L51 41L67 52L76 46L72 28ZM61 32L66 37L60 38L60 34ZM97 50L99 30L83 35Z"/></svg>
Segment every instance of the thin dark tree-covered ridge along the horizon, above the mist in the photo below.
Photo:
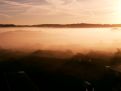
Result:
<svg viewBox="0 0 121 91"><path fill-rule="evenodd" d="M121 27L121 24L38 24L38 25L15 25L15 24L0 24L0 27L53 27L53 28L98 28L98 27Z"/></svg>

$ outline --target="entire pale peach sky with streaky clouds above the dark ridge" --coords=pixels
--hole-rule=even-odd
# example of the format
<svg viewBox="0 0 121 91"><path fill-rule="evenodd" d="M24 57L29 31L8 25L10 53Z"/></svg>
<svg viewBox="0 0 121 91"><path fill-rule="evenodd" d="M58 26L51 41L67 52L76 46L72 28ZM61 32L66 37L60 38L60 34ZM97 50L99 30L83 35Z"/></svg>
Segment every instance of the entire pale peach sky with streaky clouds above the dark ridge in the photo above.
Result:
<svg viewBox="0 0 121 91"><path fill-rule="evenodd" d="M0 23L121 23L121 0L0 0Z"/></svg>

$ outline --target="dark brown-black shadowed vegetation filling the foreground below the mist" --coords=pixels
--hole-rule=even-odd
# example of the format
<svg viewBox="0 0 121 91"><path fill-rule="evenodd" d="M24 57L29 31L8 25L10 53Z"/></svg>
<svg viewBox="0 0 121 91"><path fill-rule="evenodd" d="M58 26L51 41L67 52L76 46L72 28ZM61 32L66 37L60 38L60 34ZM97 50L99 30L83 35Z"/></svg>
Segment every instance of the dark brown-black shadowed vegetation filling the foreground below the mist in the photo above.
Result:
<svg viewBox="0 0 121 91"><path fill-rule="evenodd" d="M0 91L121 91L120 65L120 50L109 55L0 49Z"/></svg>

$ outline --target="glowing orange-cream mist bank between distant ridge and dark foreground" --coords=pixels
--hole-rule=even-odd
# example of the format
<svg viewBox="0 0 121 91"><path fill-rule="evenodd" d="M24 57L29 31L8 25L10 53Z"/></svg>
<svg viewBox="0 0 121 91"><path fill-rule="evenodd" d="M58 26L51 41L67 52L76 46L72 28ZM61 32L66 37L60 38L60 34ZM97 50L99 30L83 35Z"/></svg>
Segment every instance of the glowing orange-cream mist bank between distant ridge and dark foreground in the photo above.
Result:
<svg viewBox="0 0 121 91"><path fill-rule="evenodd" d="M1 28L5 48L72 51L114 51L121 46L121 31L111 28Z"/></svg>

